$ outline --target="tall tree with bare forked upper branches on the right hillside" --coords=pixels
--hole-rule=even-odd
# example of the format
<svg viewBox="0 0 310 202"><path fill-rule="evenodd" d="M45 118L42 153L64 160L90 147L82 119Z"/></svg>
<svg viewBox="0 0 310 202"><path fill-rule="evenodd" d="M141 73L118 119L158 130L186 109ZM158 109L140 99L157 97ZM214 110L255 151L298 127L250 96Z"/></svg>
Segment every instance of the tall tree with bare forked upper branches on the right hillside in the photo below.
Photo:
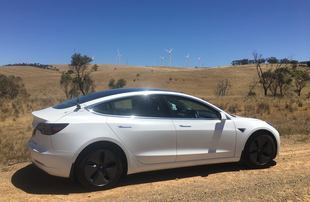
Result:
<svg viewBox="0 0 310 202"><path fill-rule="evenodd" d="M284 68L281 68L282 63L278 63L276 69L273 72L271 71L271 69L263 72L262 68L260 67L260 59L262 57L262 54L258 54L255 50L253 52L253 56L256 64L257 79L263 85L265 96L267 96L267 90L270 89L270 86L276 80L277 75L284 71L284 68L287 66L287 64L284 65ZM270 58L268 58L268 60L267 61L269 63L273 62L272 60L270 60Z"/></svg>

